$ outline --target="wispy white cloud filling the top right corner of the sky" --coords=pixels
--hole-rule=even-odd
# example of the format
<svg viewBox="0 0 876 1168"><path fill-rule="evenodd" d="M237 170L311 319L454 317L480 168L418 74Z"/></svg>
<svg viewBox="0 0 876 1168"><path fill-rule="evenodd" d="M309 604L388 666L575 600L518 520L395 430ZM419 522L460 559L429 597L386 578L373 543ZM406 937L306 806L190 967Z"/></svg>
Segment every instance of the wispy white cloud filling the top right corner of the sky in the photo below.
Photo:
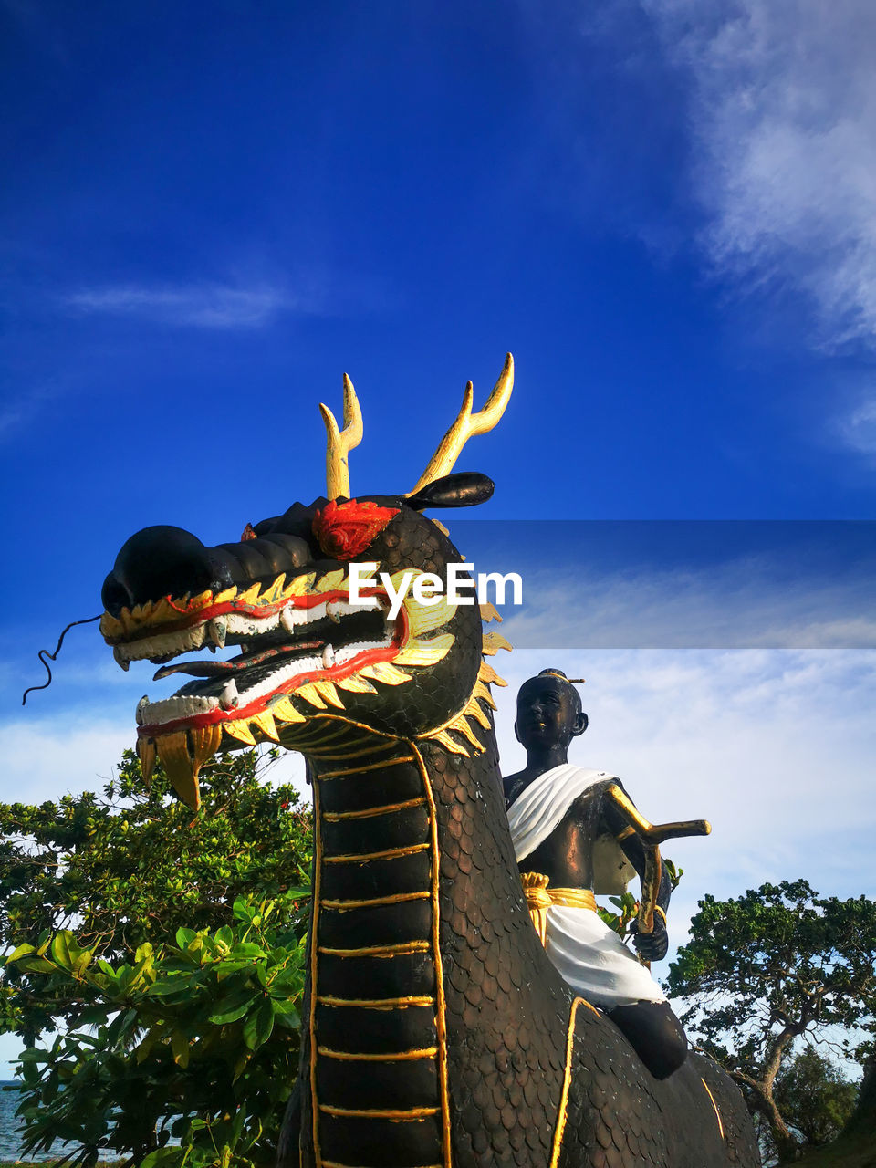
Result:
<svg viewBox="0 0 876 1168"><path fill-rule="evenodd" d="M695 186L722 271L791 286L814 340L876 341L876 7L641 0L690 83Z"/></svg>

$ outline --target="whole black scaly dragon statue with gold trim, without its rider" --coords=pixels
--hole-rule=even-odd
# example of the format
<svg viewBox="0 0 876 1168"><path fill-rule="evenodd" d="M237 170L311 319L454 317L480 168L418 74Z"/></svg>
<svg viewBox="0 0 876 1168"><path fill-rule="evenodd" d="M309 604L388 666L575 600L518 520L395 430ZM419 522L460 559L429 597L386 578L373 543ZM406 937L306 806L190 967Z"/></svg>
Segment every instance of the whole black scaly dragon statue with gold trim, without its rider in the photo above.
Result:
<svg viewBox="0 0 876 1168"><path fill-rule="evenodd" d="M102 632L123 668L188 680L137 709L148 778L160 758L197 807L217 751L301 751L313 785L314 865L301 1066L283 1168L755 1168L742 1097L690 1056L656 1082L614 1024L547 957L507 826L486 656L509 648L492 606L352 604L352 561L446 575L461 557L422 513L489 498L450 473L510 395L508 356L485 408L463 409L413 491L349 498L362 437L345 377L328 431L327 498L294 503L235 543L151 527L121 548ZM176 661L239 646L231 660ZM167 663L173 661L174 663Z"/></svg>

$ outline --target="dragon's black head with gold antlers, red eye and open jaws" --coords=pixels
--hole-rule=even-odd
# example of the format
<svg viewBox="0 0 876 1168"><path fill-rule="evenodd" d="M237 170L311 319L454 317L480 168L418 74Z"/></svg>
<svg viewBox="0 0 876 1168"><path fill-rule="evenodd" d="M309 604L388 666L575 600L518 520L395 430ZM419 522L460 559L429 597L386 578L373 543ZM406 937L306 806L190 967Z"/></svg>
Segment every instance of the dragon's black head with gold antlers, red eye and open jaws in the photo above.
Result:
<svg viewBox="0 0 876 1168"><path fill-rule="evenodd" d="M345 376L343 429L320 406L326 498L248 524L236 543L208 548L182 528L148 527L124 544L104 583L104 639L123 669L150 660L160 666L155 680L188 679L173 696L138 704L146 778L160 758L181 798L197 807L199 771L217 751L272 741L306 753L338 718L380 734L432 736L459 753L466 738L479 745L467 718L489 724L486 683L500 679L481 659L474 597L465 604L446 596L447 564L461 557L422 512L492 495L485 475L449 472L467 438L498 423L513 373L509 354L474 413L467 384L457 419L406 495L349 498L348 454L362 438L362 416ZM352 575L373 583L356 589ZM394 604L402 585L404 600ZM505 644L491 640L493 652ZM227 646L241 652L216 656ZM206 660L183 656L201 649Z"/></svg>

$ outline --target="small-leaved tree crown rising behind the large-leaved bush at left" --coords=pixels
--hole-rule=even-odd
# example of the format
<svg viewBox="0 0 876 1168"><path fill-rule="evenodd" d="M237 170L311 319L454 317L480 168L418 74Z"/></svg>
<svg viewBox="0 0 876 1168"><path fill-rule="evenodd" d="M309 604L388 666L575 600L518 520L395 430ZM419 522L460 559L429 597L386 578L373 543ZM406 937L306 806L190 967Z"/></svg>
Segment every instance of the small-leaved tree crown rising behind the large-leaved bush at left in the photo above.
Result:
<svg viewBox="0 0 876 1168"><path fill-rule="evenodd" d="M274 757L243 751L206 767L195 819L160 766L146 787L132 751L102 794L0 804L2 945L39 946L69 929L82 948L119 962L146 941L171 943L180 927L231 925L239 896L300 888L310 880L311 813L292 786L264 783ZM47 1028L75 1026L82 1003L70 990L49 990L39 973L11 965L0 1029L32 1043Z"/></svg>

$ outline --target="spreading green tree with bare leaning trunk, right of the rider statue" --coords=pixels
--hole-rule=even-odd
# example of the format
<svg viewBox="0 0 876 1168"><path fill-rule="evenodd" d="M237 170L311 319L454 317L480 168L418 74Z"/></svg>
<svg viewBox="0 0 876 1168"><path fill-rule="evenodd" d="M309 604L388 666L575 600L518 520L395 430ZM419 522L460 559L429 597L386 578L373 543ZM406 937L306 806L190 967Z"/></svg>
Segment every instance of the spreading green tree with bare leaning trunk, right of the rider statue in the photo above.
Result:
<svg viewBox="0 0 876 1168"><path fill-rule="evenodd" d="M876 902L783 881L731 901L707 896L690 933L667 989L688 1001L688 1033L741 1084L780 1160L792 1160L805 1135L781 1112L777 1078L797 1040L876 1024Z"/></svg>

